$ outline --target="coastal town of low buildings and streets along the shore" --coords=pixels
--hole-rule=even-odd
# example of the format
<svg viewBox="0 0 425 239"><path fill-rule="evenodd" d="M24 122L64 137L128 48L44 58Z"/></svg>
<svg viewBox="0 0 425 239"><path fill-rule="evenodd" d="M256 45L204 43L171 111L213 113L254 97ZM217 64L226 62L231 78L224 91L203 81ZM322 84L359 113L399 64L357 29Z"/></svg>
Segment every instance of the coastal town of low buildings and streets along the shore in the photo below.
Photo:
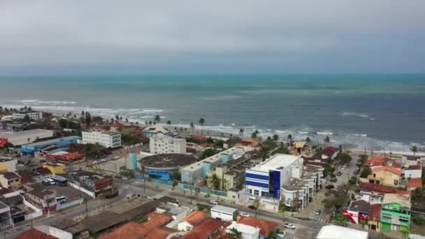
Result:
<svg viewBox="0 0 425 239"><path fill-rule="evenodd" d="M0 106L4 238L421 238L422 161L332 135Z"/></svg>

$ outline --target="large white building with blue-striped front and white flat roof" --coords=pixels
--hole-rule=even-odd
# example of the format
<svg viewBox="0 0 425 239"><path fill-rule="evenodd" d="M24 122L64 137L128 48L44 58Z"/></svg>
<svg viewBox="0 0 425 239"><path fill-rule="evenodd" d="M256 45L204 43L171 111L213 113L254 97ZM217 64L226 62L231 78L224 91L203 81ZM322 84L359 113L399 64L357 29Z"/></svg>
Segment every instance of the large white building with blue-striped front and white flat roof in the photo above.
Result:
<svg viewBox="0 0 425 239"><path fill-rule="evenodd" d="M245 171L245 190L254 196L280 198L280 188L290 185L291 178L303 175L303 158L275 154L261 164Z"/></svg>

